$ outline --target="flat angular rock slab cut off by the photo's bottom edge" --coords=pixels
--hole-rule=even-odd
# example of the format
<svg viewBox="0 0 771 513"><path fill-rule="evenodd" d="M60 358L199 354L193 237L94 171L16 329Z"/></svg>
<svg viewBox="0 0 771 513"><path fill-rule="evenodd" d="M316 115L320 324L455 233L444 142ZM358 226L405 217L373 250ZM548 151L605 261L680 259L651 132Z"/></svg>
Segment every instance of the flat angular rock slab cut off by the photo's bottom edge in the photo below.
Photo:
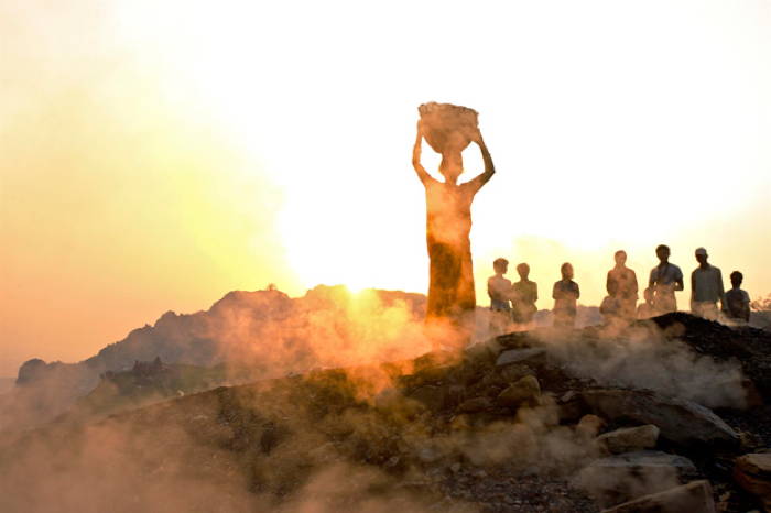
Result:
<svg viewBox="0 0 771 513"><path fill-rule="evenodd" d="M663 492L625 502L602 513L716 513L709 481L693 481Z"/></svg>

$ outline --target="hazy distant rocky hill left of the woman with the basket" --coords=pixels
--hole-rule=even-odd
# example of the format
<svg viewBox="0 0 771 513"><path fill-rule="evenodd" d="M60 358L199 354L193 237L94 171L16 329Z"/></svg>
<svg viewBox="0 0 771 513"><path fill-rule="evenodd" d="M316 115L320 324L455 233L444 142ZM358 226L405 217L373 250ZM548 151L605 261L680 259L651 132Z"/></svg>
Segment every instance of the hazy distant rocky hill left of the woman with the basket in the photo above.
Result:
<svg viewBox="0 0 771 513"><path fill-rule="evenodd" d="M205 312L167 312L82 362L25 362L14 390L0 396L0 432L56 417L94 391L100 375L137 361L225 364L221 384L414 356L426 350L420 335L424 312L425 296L404 292L354 295L341 286L317 286L298 298L272 290L230 292ZM415 343L404 345L411 339Z"/></svg>

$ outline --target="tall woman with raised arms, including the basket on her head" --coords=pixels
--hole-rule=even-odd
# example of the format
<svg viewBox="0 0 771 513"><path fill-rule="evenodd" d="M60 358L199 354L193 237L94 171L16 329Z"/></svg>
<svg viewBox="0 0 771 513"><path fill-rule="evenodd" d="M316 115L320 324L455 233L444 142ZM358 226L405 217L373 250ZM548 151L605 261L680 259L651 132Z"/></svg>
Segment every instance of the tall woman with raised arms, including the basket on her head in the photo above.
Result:
<svg viewBox="0 0 771 513"><path fill-rule="evenodd" d="M476 308L469 241L471 201L493 175L495 167L476 127L476 112L463 107L436 103L421 106L420 110L422 120L417 123L412 165L425 187L426 243L431 260L426 319L445 318L460 321ZM436 111L442 114L438 121ZM473 123L466 122L468 112L474 113ZM431 119L432 122L441 124L447 122L447 119L453 121L456 113L463 118L465 124L458 123L460 128L455 130L443 130L442 127L437 129L436 124L426 127L423 119ZM445 177L444 182L433 178L421 164L421 142L424 137L432 148L442 153L439 172ZM458 184L458 176L464 171L460 152L469 142L479 146L485 172L470 182Z"/></svg>

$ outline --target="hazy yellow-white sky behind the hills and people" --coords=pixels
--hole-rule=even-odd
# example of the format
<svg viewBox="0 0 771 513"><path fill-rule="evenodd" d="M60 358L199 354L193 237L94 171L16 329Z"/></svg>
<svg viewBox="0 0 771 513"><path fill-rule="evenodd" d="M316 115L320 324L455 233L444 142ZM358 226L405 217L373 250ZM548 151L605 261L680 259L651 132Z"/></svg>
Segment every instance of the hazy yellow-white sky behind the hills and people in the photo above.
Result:
<svg viewBox="0 0 771 513"><path fill-rule="evenodd" d="M769 1L0 0L0 375L236 288L425 292L431 100L479 111L498 170L480 304L496 256L540 307L571 261L597 304L662 242L771 293Z"/></svg>

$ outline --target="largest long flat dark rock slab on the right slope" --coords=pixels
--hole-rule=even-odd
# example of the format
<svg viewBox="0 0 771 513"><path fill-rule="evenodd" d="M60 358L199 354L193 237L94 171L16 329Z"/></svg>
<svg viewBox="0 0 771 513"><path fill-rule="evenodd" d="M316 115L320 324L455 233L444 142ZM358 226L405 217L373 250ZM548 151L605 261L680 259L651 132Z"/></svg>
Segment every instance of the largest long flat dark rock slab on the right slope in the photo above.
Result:
<svg viewBox="0 0 771 513"><path fill-rule="evenodd" d="M585 390L582 399L597 415L653 424L664 438L677 444L739 443L739 435L728 424L693 401L665 397L648 390L622 389Z"/></svg>

